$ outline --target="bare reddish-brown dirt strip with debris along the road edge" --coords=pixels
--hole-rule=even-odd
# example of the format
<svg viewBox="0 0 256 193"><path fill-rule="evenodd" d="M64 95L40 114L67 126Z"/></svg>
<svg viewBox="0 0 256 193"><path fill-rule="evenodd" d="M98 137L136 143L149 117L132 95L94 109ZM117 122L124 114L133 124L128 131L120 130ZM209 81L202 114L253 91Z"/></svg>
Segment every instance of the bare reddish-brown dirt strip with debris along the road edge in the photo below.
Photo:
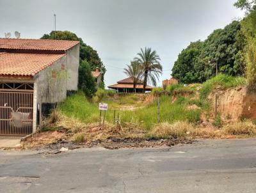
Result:
<svg viewBox="0 0 256 193"><path fill-rule="evenodd" d="M105 134L103 134L105 132ZM61 148L74 150L76 148L92 148L100 146L109 150L117 150L120 148L156 148L161 146L174 146L175 144L191 144L194 141L191 139L152 139L146 137L122 137L120 134L111 131L108 137L106 133L109 130L102 132L100 128L94 127L88 130L86 141L84 143L75 143L72 140L72 134L67 130L58 130L54 132L42 132L35 134L22 142L20 149L42 150L42 153L61 153ZM89 136L93 133L93 136ZM100 137L99 137L100 134ZM104 137L103 137L104 135Z"/></svg>

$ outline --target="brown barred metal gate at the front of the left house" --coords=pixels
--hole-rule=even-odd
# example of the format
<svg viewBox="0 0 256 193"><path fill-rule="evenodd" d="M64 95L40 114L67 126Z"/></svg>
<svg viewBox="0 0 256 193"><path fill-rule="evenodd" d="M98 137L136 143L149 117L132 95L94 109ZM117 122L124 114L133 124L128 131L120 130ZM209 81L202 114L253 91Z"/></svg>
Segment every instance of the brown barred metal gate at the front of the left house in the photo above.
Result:
<svg viewBox="0 0 256 193"><path fill-rule="evenodd" d="M32 132L33 84L0 83L0 135Z"/></svg>

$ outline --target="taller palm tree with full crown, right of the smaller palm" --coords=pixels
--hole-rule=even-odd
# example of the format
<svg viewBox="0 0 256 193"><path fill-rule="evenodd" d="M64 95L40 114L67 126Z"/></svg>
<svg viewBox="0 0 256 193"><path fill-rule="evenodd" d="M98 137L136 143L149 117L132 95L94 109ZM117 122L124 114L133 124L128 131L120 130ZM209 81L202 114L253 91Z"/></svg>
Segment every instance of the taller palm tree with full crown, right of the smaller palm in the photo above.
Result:
<svg viewBox="0 0 256 193"><path fill-rule="evenodd" d="M163 67L160 64L160 58L156 53L156 50L145 47L145 50L141 49L141 52L137 54L134 61L140 64L143 71L143 90L145 91L147 82L151 82L153 86L156 86L159 81L159 74L162 74Z"/></svg>

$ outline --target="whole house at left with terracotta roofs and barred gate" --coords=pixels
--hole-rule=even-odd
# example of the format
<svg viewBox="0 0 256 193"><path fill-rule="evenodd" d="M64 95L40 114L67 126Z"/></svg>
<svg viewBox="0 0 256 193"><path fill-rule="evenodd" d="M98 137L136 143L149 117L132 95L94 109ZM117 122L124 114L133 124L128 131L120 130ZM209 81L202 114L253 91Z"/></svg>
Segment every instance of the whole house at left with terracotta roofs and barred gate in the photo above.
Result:
<svg viewBox="0 0 256 193"><path fill-rule="evenodd" d="M79 42L0 38L0 135L36 132L77 91Z"/></svg>

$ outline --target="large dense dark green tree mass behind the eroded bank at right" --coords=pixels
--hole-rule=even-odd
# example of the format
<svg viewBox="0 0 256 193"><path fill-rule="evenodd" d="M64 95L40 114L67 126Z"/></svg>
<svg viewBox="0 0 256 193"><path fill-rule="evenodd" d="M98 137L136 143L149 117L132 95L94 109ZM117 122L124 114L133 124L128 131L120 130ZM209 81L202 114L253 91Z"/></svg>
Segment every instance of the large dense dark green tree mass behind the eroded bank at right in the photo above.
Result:
<svg viewBox="0 0 256 193"><path fill-rule="evenodd" d="M204 82L216 75L216 67L227 75L243 75L240 29L240 22L234 21L224 29L216 29L204 42L192 42L175 61L172 77L185 84Z"/></svg>

